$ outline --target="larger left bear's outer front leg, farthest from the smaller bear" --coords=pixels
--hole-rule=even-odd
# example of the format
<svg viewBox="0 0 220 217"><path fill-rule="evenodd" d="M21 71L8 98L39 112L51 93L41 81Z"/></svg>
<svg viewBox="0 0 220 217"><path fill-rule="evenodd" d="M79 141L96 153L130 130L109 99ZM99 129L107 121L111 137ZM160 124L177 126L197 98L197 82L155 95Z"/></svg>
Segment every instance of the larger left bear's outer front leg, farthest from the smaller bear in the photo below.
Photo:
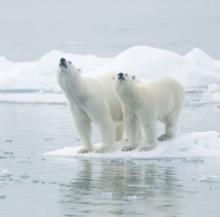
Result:
<svg viewBox="0 0 220 217"><path fill-rule="evenodd" d="M80 108L75 105L70 105L70 108L82 145L78 153L91 152L93 150L91 144L91 121L86 113Z"/></svg>

